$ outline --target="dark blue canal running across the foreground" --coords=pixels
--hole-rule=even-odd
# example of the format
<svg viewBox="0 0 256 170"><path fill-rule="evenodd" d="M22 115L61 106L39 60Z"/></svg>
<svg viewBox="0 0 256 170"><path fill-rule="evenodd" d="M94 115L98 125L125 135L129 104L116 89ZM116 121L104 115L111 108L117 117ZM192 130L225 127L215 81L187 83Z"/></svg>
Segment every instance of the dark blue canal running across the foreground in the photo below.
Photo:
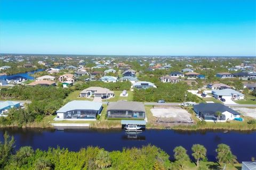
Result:
<svg viewBox="0 0 256 170"><path fill-rule="evenodd" d="M124 147L141 147L155 145L170 155L173 159L173 149L183 146L191 157L191 147L199 143L207 149L207 158L215 161L215 149L220 143L230 146L239 162L249 161L256 157L256 132L230 131L173 131L173 130L146 130L142 133L127 134L122 130L55 130L55 129L0 129L0 139L3 141L4 132L9 132L15 138L16 149L22 146L31 146L34 149L47 150L49 147L68 148L77 151L87 146L98 146L108 151L122 150Z"/></svg>

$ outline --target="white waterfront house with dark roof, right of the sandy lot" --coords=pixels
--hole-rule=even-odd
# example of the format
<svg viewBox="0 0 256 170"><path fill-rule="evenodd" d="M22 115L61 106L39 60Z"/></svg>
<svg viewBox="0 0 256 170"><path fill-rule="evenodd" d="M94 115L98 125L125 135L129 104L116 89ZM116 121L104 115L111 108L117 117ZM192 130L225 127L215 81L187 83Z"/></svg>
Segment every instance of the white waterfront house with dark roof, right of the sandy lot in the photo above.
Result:
<svg viewBox="0 0 256 170"><path fill-rule="evenodd" d="M194 111L197 117L202 118L205 121L217 121L218 116L216 115L216 112L222 113L220 116L221 122L231 121L234 120L234 118L240 117L238 112L219 103L200 103L194 105Z"/></svg>

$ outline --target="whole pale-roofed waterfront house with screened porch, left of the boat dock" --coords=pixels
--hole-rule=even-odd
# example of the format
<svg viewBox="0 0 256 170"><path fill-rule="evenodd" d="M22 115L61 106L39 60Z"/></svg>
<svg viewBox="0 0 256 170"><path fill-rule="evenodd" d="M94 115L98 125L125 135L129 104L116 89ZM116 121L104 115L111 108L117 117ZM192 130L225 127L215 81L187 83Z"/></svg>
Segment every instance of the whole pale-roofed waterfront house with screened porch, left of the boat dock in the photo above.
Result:
<svg viewBox="0 0 256 170"><path fill-rule="evenodd" d="M57 118L66 120L96 119L102 111L102 103L73 100L61 107L56 113Z"/></svg>

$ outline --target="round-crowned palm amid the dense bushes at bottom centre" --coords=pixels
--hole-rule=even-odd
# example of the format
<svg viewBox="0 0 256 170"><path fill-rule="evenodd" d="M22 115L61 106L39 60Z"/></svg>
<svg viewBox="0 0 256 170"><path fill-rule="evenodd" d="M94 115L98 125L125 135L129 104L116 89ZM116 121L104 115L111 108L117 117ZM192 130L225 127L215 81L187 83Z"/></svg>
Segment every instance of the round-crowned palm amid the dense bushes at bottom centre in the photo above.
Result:
<svg viewBox="0 0 256 170"><path fill-rule="evenodd" d="M109 167L111 165L111 159L108 151L101 149L96 157L95 164L101 169Z"/></svg>

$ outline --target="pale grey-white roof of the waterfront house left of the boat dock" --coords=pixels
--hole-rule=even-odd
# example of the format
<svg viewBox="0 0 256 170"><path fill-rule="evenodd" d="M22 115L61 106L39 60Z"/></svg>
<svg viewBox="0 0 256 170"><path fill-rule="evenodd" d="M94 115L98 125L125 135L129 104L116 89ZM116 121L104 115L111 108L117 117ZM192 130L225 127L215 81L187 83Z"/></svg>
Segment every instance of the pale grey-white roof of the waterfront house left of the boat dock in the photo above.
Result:
<svg viewBox="0 0 256 170"><path fill-rule="evenodd" d="M74 110L94 110L99 111L102 107L102 103L87 101L87 100L73 100L61 107L57 113L63 113Z"/></svg>

